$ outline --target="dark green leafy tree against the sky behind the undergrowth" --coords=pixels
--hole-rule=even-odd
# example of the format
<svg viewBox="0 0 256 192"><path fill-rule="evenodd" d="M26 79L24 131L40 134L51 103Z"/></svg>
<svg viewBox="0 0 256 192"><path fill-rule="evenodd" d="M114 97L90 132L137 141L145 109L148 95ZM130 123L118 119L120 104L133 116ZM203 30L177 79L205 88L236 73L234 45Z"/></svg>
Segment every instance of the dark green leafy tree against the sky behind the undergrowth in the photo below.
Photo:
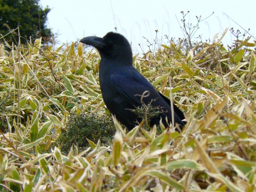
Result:
<svg viewBox="0 0 256 192"><path fill-rule="evenodd" d="M25 44L30 36L32 39L50 37L51 30L45 25L50 9L48 7L42 9L39 5L39 0L0 0L0 34L6 35L4 39L9 44L18 42L17 30L8 34L10 30L17 27L19 27L22 44Z"/></svg>

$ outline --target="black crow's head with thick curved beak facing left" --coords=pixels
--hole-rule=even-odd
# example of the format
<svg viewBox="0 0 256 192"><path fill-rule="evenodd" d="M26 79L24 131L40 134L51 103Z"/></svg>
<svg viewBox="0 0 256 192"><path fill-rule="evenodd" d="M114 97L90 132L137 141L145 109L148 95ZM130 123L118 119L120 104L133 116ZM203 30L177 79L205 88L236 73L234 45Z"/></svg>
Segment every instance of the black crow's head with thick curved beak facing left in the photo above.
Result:
<svg viewBox="0 0 256 192"><path fill-rule="evenodd" d="M119 33L109 32L103 38L84 37L80 42L95 47L102 58L132 61L133 54L129 41Z"/></svg>

